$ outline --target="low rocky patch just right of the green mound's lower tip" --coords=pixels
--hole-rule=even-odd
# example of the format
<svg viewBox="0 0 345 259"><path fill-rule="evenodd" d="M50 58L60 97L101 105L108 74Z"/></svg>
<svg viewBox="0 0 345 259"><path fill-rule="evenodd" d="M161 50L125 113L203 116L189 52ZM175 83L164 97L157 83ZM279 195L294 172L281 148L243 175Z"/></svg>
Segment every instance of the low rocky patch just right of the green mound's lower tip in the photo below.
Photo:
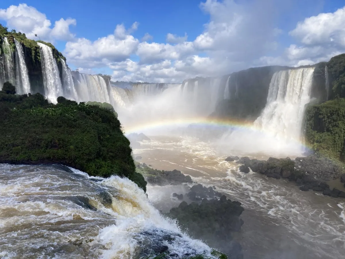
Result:
<svg viewBox="0 0 345 259"><path fill-rule="evenodd" d="M156 170L147 166L145 163L138 164L138 169L141 169L141 173L146 176L146 181L153 185L177 185L182 183L193 183L189 175L184 175L181 171L172 170Z"/></svg>

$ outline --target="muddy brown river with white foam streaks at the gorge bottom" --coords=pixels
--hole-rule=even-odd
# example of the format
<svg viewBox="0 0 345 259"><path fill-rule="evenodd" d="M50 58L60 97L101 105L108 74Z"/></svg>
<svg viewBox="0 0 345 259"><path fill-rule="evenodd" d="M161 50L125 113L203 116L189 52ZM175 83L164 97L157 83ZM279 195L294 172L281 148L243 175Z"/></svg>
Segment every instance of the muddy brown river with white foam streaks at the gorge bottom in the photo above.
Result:
<svg viewBox="0 0 345 259"><path fill-rule="evenodd" d="M302 192L284 179L241 173L238 164L224 159L242 154L222 153L213 142L192 137L153 136L134 153L142 156L141 163L162 170L181 170L194 181L216 186L231 200L242 202L245 223L236 239L243 245L245 258L344 258L344 200ZM180 203L171 194L187 191L183 186L148 186L147 192L158 209L168 211Z"/></svg>

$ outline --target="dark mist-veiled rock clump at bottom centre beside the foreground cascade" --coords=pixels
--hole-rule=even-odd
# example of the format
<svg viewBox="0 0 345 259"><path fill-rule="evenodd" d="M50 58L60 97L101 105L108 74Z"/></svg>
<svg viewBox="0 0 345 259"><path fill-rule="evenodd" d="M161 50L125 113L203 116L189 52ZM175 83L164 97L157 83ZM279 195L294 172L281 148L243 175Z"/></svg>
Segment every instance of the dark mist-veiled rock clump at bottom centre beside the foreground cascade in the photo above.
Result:
<svg viewBox="0 0 345 259"><path fill-rule="evenodd" d="M240 231L243 211L240 202L223 195L219 200L204 198L201 203L183 201L168 215L176 218L194 238L205 240L211 247L227 253L229 259L242 259L242 247L233 240L231 233Z"/></svg>

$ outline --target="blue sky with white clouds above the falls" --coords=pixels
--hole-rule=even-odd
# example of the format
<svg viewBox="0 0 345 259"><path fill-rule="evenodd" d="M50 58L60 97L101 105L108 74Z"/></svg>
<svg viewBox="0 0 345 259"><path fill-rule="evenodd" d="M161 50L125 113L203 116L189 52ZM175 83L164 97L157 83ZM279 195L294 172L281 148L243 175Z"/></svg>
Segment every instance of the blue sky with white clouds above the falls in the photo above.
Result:
<svg viewBox="0 0 345 259"><path fill-rule="evenodd" d="M344 0L1 0L0 23L113 81L181 83L345 52Z"/></svg>

